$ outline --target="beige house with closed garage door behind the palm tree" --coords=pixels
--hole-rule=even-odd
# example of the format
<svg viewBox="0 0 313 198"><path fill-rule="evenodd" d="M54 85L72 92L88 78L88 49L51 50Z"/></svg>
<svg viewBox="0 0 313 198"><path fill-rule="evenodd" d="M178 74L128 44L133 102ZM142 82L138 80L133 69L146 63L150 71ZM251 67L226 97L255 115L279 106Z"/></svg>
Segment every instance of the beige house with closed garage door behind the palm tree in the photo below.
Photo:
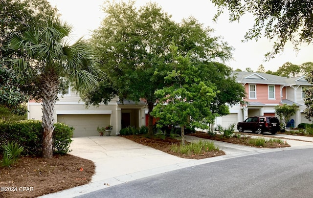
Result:
<svg viewBox="0 0 313 198"><path fill-rule="evenodd" d="M74 127L74 137L99 135L97 127L113 126L112 135L119 134L122 128L134 126L136 128L145 125L144 102L137 104L130 101L119 101L113 98L108 105L86 107L78 94L68 89L67 93L59 95L59 100L55 103L53 114L56 122L62 122ZM41 103L35 101L28 102L28 119L42 119Z"/></svg>

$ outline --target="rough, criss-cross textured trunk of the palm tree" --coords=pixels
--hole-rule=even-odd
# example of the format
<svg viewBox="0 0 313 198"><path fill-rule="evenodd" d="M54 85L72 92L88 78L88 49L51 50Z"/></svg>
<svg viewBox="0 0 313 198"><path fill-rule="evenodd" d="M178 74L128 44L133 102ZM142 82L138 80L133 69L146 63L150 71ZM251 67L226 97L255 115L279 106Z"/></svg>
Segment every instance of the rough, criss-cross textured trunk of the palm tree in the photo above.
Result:
<svg viewBox="0 0 313 198"><path fill-rule="evenodd" d="M44 74L41 77L41 95L43 110L43 157L52 158L54 130L54 103L58 95L58 77L54 72Z"/></svg>

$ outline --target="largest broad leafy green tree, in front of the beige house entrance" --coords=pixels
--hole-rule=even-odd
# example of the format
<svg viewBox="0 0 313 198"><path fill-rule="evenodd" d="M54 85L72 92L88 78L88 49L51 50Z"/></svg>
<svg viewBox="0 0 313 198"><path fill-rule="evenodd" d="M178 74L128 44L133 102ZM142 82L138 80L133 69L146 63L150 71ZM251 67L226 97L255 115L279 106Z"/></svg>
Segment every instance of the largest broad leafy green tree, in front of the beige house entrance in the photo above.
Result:
<svg viewBox="0 0 313 198"><path fill-rule="evenodd" d="M85 95L88 104L108 102L114 96L139 101L145 99L148 112L156 102L155 91L166 86L164 77L172 71L170 46L174 44L191 63L225 61L232 47L212 29L190 17L174 22L156 3L136 8L134 1L105 4L106 17L92 34L91 44L99 53L107 78L100 87ZM152 133L149 116L149 133Z"/></svg>

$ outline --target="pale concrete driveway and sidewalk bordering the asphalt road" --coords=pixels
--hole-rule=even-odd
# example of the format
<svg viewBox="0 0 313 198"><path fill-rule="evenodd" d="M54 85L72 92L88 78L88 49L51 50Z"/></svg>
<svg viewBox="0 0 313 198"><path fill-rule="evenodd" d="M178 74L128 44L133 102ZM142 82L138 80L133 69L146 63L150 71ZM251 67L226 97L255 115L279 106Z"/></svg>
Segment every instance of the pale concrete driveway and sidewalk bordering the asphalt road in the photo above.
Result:
<svg viewBox="0 0 313 198"><path fill-rule="evenodd" d="M286 138L300 139L299 136L289 136L291 135ZM201 138L186 135L185 139L192 142L199 141ZM226 155L196 160L179 158L119 136L75 137L71 143L70 154L90 159L95 163L96 170L92 181L89 184L41 196L41 198L73 198L135 179L204 163L251 154L313 148L313 138L305 139L306 141L312 140L312 142L287 140L291 147L279 149L262 149L214 141L214 144L219 146Z"/></svg>

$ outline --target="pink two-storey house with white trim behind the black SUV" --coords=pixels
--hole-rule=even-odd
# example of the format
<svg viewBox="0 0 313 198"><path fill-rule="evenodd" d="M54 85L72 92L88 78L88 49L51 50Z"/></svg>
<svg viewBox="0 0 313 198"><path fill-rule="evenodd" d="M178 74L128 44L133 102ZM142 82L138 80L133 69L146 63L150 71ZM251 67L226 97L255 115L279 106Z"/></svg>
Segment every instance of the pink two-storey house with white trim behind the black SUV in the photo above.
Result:
<svg viewBox="0 0 313 198"><path fill-rule="evenodd" d="M300 123L312 123L303 113L306 108L303 88L311 86L304 76L287 78L256 72L234 73L236 73L236 81L246 89L245 101L248 104L244 107L239 104L231 107L230 114L216 119L216 125L227 127L229 124L256 115L274 116L274 107L281 104L296 104L299 107L299 111L291 117L294 119L295 126Z"/></svg>

